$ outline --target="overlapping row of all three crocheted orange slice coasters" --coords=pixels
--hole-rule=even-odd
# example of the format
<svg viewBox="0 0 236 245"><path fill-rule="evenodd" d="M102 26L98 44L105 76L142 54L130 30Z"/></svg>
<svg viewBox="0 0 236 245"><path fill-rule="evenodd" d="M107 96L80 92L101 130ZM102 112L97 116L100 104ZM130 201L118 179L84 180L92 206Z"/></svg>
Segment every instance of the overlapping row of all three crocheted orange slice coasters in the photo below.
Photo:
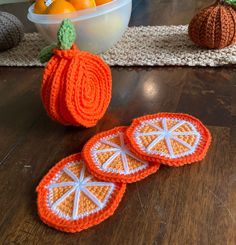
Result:
<svg viewBox="0 0 236 245"><path fill-rule="evenodd" d="M97 225L113 215L125 183L157 172L160 163L182 166L200 161L210 142L208 129L181 113L147 115L129 127L99 133L85 144L82 154L62 159L41 180L39 216L65 232Z"/></svg>

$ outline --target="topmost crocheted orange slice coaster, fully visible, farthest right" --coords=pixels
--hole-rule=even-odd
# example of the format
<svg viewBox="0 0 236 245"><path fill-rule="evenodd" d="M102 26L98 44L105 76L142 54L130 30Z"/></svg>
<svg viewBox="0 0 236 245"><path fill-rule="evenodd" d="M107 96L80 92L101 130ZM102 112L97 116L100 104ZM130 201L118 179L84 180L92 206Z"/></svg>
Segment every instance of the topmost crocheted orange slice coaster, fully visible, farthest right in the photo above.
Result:
<svg viewBox="0 0 236 245"><path fill-rule="evenodd" d="M195 117L158 113L134 119L126 140L132 151L147 161L182 166L205 157L211 135Z"/></svg>

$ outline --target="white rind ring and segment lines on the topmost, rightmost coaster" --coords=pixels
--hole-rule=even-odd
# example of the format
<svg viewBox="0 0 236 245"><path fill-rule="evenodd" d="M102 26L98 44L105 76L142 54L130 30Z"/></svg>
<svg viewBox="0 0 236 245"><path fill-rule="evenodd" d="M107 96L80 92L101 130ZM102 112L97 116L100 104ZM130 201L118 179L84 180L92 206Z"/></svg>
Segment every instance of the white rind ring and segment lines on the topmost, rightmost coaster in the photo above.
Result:
<svg viewBox="0 0 236 245"><path fill-rule="evenodd" d="M168 129L167 120L174 120L177 123L173 127ZM158 126L157 122L160 122L162 127ZM176 129L180 128L182 125L186 125L186 124L191 128L191 131L186 131L186 132L175 131ZM143 132L143 133L140 132L142 128L145 127L145 125L149 125L151 128L153 128L154 131ZM193 145L188 144L187 142L185 142L184 140L178 137L178 136L188 136L188 135L194 135L196 137ZM156 136L156 137L151 141L151 143L147 147L145 147L141 139L143 136ZM158 119L146 120L142 122L141 125L137 127L137 129L134 131L134 137L136 143L138 144L139 148L143 152L146 152L148 154L161 155L171 159L184 157L194 153L201 139L200 133L197 131L196 127L192 123L185 120L173 119L173 118L161 118L161 119L158 118ZM168 153L153 149L155 145L158 144L160 141L165 141L166 147L168 149ZM175 154L172 145L173 141L178 142L179 144L186 147L188 150L179 154Z"/></svg>

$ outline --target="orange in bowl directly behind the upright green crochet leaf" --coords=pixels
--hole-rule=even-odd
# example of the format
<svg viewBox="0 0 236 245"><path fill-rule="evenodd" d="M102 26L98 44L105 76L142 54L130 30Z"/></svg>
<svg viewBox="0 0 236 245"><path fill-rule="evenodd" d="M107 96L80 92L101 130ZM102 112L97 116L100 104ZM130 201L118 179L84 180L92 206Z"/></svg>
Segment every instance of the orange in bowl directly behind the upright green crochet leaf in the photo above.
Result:
<svg viewBox="0 0 236 245"><path fill-rule="evenodd" d="M48 8L47 14L66 14L75 12L73 5L66 0L55 0Z"/></svg>

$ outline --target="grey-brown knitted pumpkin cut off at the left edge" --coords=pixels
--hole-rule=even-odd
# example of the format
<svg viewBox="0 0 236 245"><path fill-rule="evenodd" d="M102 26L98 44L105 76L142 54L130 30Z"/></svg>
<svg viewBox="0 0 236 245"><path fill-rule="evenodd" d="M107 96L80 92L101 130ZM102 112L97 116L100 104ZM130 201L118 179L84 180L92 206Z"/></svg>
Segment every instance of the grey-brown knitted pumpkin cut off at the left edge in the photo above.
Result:
<svg viewBox="0 0 236 245"><path fill-rule="evenodd" d="M23 24L12 14L0 11L0 51L15 47L24 36Z"/></svg>

